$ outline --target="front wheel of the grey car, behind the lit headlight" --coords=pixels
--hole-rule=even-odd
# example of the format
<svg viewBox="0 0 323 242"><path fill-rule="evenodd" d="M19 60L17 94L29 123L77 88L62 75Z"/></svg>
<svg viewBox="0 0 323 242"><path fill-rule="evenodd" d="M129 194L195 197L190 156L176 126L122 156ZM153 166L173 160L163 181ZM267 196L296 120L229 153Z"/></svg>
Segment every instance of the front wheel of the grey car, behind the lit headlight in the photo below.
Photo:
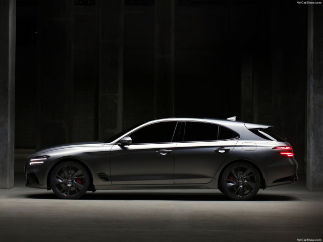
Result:
<svg viewBox="0 0 323 242"><path fill-rule="evenodd" d="M89 188L90 177L85 167L74 161L59 164L50 174L50 187L62 199L78 199Z"/></svg>

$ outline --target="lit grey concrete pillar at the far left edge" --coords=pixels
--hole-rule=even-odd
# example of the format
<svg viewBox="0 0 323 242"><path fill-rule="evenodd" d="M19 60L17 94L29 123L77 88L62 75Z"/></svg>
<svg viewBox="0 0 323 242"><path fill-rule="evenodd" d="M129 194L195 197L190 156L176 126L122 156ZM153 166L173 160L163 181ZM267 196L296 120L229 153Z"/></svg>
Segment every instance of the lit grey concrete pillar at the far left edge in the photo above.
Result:
<svg viewBox="0 0 323 242"><path fill-rule="evenodd" d="M16 0L0 1L0 189L14 187Z"/></svg>

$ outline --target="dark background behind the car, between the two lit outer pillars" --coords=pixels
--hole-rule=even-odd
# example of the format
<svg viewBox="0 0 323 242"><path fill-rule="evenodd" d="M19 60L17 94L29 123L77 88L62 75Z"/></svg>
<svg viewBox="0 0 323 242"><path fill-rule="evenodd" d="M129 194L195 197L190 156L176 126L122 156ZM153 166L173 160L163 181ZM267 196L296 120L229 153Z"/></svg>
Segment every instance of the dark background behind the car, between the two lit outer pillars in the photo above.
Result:
<svg viewBox="0 0 323 242"><path fill-rule="evenodd" d="M304 173L307 6L177 0L170 13L153 0L17 0L16 148L103 140L155 117L237 115L274 125Z"/></svg>

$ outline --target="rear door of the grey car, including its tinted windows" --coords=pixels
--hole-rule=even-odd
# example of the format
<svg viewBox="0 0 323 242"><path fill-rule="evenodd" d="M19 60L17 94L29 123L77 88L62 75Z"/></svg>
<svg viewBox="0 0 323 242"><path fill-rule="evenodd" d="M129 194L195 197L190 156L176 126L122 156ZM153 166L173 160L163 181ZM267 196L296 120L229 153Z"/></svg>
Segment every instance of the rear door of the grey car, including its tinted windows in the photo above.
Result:
<svg viewBox="0 0 323 242"><path fill-rule="evenodd" d="M175 153L175 184L209 183L238 142L239 135L223 126L184 122Z"/></svg>

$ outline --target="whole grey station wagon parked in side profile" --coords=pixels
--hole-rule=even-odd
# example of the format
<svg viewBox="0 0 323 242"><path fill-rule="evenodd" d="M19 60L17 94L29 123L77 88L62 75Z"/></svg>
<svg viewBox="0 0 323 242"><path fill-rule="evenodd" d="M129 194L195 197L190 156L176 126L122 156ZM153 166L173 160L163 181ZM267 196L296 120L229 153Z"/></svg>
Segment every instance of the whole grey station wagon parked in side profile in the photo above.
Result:
<svg viewBox="0 0 323 242"><path fill-rule="evenodd" d="M104 142L47 148L27 158L25 175L27 187L63 199L98 189L219 189L247 200L298 179L293 149L272 126L235 117L157 119Z"/></svg>

